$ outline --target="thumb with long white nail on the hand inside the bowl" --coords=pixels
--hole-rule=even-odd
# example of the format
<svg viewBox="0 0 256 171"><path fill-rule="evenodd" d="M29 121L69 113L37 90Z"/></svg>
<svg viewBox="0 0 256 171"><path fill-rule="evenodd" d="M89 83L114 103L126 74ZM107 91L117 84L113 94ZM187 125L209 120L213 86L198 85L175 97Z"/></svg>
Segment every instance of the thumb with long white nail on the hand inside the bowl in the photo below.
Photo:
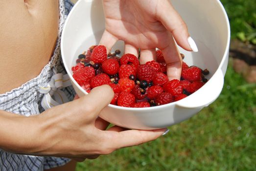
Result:
<svg viewBox="0 0 256 171"><path fill-rule="evenodd" d="M162 1L161 10L158 11L157 17L163 23L165 28L173 34L178 45L188 51L197 52L197 46L193 39L189 36L186 23L183 21L179 13L173 8L169 0ZM169 17L166 17L169 16Z"/></svg>

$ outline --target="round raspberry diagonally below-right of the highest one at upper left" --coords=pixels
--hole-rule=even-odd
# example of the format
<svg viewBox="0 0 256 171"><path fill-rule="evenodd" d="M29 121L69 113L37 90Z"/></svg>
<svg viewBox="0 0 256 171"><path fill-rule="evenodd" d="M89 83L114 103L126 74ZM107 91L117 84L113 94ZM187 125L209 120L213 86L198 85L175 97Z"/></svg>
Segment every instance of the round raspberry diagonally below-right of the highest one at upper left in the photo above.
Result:
<svg viewBox="0 0 256 171"><path fill-rule="evenodd" d="M102 63L102 69L106 74L115 75L119 70L119 63L115 59L107 59Z"/></svg>

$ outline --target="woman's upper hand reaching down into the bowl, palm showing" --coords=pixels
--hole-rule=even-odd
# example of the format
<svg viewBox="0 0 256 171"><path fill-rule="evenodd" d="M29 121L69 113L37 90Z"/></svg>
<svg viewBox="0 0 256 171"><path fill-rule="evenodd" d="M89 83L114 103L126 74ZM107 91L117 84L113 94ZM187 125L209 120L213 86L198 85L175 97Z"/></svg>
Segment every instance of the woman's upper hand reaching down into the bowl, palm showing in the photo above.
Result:
<svg viewBox="0 0 256 171"><path fill-rule="evenodd" d="M140 63L155 60L162 50L169 79L180 79L182 58L178 45L197 51L186 23L169 0L103 0L106 29L100 41L108 52L117 40L125 42L125 53L138 56ZM174 41L174 39L175 41Z"/></svg>

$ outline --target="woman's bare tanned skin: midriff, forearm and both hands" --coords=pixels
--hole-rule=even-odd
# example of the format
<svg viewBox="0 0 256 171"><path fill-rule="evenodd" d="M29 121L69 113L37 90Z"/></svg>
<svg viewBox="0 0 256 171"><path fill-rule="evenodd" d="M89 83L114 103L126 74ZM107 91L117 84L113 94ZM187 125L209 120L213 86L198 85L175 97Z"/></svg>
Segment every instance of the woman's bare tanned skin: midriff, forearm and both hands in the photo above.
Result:
<svg viewBox="0 0 256 171"><path fill-rule="evenodd" d="M154 49L158 47L166 57L169 79L180 76L181 58L173 37L183 48L191 49L186 43L186 24L167 0L121 0L120 3L103 0L103 3L106 31L101 44L110 50L117 40L124 40L126 53L138 55L138 48L141 49L142 63L154 59ZM157 10L160 6L164 8ZM173 16L173 20L168 21L166 14ZM58 35L58 0L0 0L0 16L2 94L36 77L48 63ZM178 30L182 33L179 37ZM117 126L105 130L109 123L98 115L113 96L111 87L103 85L89 95L40 115L24 117L0 110L0 148L20 154L69 157L72 162L52 171L72 171L74 160L94 159L152 141L166 130L127 130Z"/></svg>

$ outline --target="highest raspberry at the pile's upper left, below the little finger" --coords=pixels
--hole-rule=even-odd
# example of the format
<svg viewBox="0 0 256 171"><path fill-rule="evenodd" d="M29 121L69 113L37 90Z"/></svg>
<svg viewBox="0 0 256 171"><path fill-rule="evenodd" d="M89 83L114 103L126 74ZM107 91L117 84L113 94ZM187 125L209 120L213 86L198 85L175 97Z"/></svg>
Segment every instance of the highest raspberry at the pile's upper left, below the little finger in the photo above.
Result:
<svg viewBox="0 0 256 171"><path fill-rule="evenodd" d="M107 60L108 55L107 55L107 49L103 45L98 45L93 48L93 52L91 55L91 61L93 63L100 63L102 64L105 60Z"/></svg>

